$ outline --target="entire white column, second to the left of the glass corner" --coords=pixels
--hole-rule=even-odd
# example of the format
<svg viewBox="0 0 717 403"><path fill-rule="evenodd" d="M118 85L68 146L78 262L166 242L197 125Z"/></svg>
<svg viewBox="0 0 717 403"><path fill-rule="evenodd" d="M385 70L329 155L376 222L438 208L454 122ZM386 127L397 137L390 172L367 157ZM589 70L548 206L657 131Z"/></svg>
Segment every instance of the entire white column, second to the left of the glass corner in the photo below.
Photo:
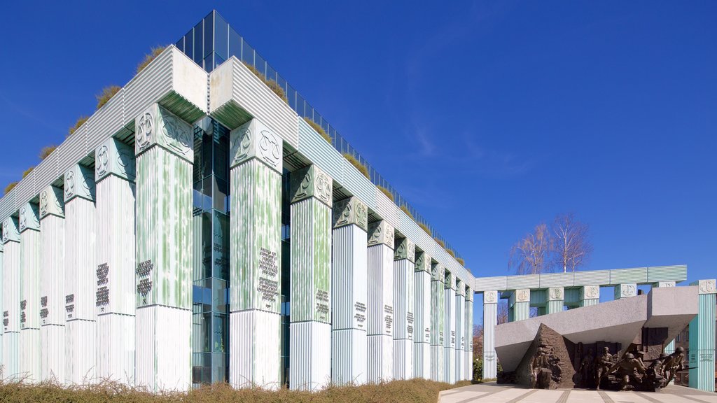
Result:
<svg viewBox="0 0 717 403"><path fill-rule="evenodd" d="M135 157L110 138L95 151L97 375L134 384Z"/></svg>

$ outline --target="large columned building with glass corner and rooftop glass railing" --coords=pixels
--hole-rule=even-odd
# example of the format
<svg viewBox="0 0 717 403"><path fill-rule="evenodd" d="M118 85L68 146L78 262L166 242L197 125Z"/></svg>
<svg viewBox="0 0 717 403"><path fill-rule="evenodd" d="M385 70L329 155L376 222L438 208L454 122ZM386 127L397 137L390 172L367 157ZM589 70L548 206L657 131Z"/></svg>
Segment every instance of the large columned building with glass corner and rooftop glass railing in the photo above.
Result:
<svg viewBox="0 0 717 403"><path fill-rule="evenodd" d="M0 222L6 379L472 378L473 275L214 11L0 199Z"/></svg>

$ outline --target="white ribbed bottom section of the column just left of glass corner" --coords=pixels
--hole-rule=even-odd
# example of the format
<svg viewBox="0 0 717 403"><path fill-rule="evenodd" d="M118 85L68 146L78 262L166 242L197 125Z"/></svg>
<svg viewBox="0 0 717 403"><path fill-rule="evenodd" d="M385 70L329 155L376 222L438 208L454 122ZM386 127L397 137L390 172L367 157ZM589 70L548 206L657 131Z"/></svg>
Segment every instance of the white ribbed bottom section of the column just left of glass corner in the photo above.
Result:
<svg viewBox="0 0 717 403"><path fill-rule="evenodd" d="M137 309L135 376L138 387L185 391L191 384L191 310Z"/></svg>

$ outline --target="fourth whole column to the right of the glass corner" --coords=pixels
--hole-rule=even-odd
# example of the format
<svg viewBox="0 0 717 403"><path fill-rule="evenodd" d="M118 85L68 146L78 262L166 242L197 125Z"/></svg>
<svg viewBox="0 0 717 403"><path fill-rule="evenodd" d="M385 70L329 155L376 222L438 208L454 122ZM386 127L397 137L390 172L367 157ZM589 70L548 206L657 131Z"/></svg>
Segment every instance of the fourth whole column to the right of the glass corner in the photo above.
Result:
<svg viewBox="0 0 717 403"><path fill-rule="evenodd" d="M368 381L390 381L394 374L394 227L369 224Z"/></svg>

